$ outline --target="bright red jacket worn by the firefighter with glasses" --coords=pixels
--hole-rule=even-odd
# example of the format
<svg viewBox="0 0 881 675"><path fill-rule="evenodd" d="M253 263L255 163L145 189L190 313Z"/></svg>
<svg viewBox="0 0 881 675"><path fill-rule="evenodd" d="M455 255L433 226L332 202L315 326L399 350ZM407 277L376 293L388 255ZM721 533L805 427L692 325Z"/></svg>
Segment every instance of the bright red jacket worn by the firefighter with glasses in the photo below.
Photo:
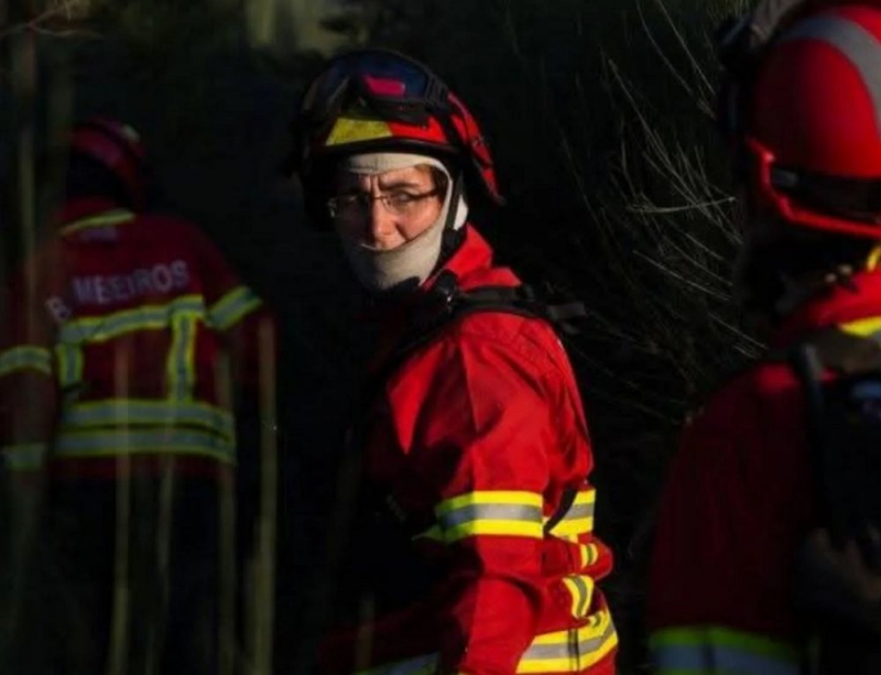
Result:
<svg viewBox="0 0 881 675"><path fill-rule="evenodd" d="M492 266L470 226L445 269L465 290L519 284ZM388 344L396 326L389 322ZM379 399L365 471L407 521L423 523L412 564L431 568L434 581L402 609L337 635L326 671L613 673L617 635L595 587L611 554L592 534L590 442L551 326L465 316L412 352ZM567 489L577 490L574 503L544 534ZM388 553L362 555L382 566Z"/></svg>

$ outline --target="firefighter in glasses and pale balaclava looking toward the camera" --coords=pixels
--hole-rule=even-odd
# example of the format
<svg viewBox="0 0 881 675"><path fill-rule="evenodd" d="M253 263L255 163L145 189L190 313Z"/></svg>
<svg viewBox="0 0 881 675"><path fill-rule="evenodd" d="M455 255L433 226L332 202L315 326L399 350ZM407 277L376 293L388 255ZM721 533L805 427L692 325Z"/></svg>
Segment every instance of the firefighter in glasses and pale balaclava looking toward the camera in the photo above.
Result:
<svg viewBox="0 0 881 675"><path fill-rule="evenodd" d="M313 81L295 128L307 208L382 333L350 458L371 497L323 672L613 673L596 586L611 554L592 534L590 442L559 340L498 311L427 327L457 292L520 285L468 220L501 203L477 123L423 65L366 51Z"/></svg>

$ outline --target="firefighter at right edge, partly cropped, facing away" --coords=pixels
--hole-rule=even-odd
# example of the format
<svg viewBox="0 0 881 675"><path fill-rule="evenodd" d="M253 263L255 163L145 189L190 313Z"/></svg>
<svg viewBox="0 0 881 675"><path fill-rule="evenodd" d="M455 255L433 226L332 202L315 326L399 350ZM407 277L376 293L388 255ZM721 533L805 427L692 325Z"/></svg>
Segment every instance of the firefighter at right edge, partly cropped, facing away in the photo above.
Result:
<svg viewBox="0 0 881 675"><path fill-rule="evenodd" d="M742 177L738 285L772 351L682 436L651 566L654 664L707 675L881 672L878 620L841 612L862 603L863 617L881 614L881 577L855 541L831 545L840 504L827 499L877 473L824 487L838 479L826 450L855 448L816 431L814 390L792 356L814 336L847 345L881 325L881 3L765 1L721 47L719 113ZM844 382L847 370L818 369L815 381ZM839 429L874 414L869 382L851 390L856 407Z"/></svg>

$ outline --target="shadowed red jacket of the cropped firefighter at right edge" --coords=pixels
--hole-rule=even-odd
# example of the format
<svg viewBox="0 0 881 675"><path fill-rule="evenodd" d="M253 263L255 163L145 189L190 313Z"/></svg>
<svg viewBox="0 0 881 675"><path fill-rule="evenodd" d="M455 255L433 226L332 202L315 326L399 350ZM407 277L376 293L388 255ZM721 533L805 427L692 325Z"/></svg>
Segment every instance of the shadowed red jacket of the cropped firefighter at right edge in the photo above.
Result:
<svg viewBox="0 0 881 675"><path fill-rule="evenodd" d="M809 302L772 347L819 327L875 331L881 273L855 283ZM651 567L649 622L660 673L798 672L793 564L817 523L808 428L805 394L783 361L733 378L685 428Z"/></svg>

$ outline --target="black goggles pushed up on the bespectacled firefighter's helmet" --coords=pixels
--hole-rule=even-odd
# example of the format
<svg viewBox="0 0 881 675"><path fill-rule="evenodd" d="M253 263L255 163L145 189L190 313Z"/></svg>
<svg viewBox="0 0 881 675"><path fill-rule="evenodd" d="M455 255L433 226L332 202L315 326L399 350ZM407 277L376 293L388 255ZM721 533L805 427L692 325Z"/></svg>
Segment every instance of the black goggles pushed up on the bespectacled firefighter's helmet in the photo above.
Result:
<svg viewBox="0 0 881 675"><path fill-rule="evenodd" d="M398 52L367 50L334 59L306 91L300 115L320 126L355 107L389 121L424 126L432 113L449 113L448 95L446 85L422 64Z"/></svg>

